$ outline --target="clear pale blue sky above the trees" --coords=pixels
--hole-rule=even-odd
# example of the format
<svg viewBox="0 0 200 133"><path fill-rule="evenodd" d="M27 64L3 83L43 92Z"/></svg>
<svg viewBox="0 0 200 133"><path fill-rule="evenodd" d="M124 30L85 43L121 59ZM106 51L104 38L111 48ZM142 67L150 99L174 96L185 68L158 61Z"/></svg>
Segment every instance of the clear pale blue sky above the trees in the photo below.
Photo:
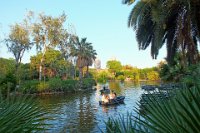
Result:
<svg viewBox="0 0 200 133"><path fill-rule="evenodd" d="M9 33L9 26L21 22L27 11L44 12L46 15L67 15L65 27L72 24L76 34L87 37L96 49L102 67L115 57L123 65L139 68L156 66L166 56L165 46L158 59L153 60L150 49L138 50L134 31L127 27L128 15L133 6L122 4L122 0L4 0L0 7L0 40ZM12 57L5 44L0 45L0 57ZM29 62L35 50L25 53L23 62Z"/></svg>

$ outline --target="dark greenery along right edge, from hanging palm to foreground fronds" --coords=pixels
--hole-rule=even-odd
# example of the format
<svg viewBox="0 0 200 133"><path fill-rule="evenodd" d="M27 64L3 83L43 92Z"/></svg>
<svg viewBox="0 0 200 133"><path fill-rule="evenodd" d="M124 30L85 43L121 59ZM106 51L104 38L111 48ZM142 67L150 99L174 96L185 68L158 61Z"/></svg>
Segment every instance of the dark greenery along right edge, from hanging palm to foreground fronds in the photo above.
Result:
<svg viewBox="0 0 200 133"><path fill-rule="evenodd" d="M123 0L123 3L135 4L128 26L136 30L139 49L145 50L151 45L151 56L156 59L159 49L166 44L166 62L159 64L161 79L182 82L186 87L164 92L160 99L147 95L145 113L140 108L136 109L139 116L111 118L106 122L107 132L200 132L200 2Z"/></svg>

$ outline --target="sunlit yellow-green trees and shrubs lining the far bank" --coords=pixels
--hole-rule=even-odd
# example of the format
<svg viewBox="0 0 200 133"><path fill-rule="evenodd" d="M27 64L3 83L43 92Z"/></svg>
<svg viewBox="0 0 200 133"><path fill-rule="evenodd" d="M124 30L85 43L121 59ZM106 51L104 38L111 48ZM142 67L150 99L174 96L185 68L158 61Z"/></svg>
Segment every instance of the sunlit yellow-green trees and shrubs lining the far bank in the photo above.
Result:
<svg viewBox="0 0 200 133"><path fill-rule="evenodd" d="M120 61L107 61L107 69L91 70L93 77L99 82L108 80L121 81L159 81L159 68L137 68L130 65L122 65Z"/></svg>

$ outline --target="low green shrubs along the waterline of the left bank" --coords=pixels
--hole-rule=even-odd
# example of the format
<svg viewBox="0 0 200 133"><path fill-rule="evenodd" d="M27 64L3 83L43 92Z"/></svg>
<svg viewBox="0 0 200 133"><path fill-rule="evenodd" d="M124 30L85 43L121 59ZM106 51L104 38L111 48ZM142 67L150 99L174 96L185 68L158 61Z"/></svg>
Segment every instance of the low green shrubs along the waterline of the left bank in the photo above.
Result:
<svg viewBox="0 0 200 133"><path fill-rule="evenodd" d="M95 84L95 80L91 78L83 79L81 88L79 80L61 80L59 78L52 78L46 82L40 82L38 80L28 80L20 84L19 88L17 88L17 92L23 94L68 93L92 89Z"/></svg>

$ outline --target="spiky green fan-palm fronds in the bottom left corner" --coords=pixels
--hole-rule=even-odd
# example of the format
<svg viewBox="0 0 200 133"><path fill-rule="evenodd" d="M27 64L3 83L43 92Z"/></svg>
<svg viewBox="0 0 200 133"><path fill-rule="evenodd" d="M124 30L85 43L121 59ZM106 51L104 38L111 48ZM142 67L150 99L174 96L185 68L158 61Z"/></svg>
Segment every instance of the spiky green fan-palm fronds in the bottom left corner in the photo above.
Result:
<svg viewBox="0 0 200 133"><path fill-rule="evenodd" d="M47 130L44 109L31 98L0 97L0 132L42 132Z"/></svg>

